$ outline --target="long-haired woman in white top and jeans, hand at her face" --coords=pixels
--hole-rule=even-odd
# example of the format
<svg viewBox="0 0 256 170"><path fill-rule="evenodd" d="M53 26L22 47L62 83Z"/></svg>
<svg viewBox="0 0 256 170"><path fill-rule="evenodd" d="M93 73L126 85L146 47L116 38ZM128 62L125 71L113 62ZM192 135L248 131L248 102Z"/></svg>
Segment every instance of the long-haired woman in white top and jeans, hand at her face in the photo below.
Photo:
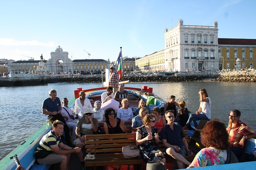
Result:
<svg viewBox="0 0 256 170"><path fill-rule="evenodd" d="M193 122L195 128L197 127L197 120L209 120L211 118L211 106L212 101L204 88L201 88L199 91L199 101L200 106L196 113L192 113L189 115L188 122L183 127L183 130L187 130L190 123Z"/></svg>

